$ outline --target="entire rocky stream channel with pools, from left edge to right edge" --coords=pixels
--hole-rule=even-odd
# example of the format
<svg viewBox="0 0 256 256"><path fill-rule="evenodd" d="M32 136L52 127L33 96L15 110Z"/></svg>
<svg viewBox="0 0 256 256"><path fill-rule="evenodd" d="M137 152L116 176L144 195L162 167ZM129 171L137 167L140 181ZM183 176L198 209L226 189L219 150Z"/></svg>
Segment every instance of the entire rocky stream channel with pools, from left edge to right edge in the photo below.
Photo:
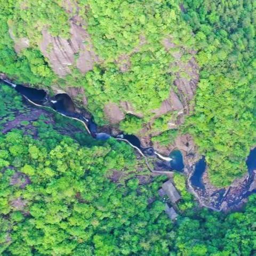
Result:
<svg viewBox="0 0 256 256"><path fill-rule="evenodd" d="M188 159L186 159L185 156L183 161L183 155L179 148L172 150L169 156L163 156L155 151L153 147L142 147L139 138L135 135L123 134L122 132L112 134L111 129L109 129L109 132L106 131L106 128L102 129L102 127L98 127L90 113L77 113L72 99L66 93L58 93L54 97L49 97L45 90L16 85L4 77L2 77L2 79L2 82L14 87L16 91L22 94L23 97L34 106L48 107L63 116L82 122L87 132L92 135L93 138L97 140L107 140L110 137L114 137L116 140L129 143L139 154L145 157L146 164L150 171L158 174L171 173L172 171L187 174L188 188L202 206L217 211L236 209L246 202L249 195L256 192L256 148L251 150L246 161L248 173L244 175L243 178L233 182L229 187L218 189L213 187L209 182L204 157L199 159L196 163L191 163L191 159L189 158L195 159L196 156L191 156L193 153L189 153L189 156L186 155ZM38 110L35 109L35 112L36 111ZM154 170L149 166L147 162L148 158L154 158Z"/></svg>

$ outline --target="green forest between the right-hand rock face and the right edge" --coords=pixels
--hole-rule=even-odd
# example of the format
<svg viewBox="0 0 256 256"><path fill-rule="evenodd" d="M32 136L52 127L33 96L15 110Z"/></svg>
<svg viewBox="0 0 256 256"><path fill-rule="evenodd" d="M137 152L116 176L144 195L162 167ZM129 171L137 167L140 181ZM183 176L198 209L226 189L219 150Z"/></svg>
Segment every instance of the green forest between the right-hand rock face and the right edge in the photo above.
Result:
<svg viewBox="0 0 256 256"><path fill-rule="evenodd" d="M229 185L255 145L255 1L185 1L201 66L189 132L206 155L211 181ZM221 164L220 164L221 163Z"/></svg>

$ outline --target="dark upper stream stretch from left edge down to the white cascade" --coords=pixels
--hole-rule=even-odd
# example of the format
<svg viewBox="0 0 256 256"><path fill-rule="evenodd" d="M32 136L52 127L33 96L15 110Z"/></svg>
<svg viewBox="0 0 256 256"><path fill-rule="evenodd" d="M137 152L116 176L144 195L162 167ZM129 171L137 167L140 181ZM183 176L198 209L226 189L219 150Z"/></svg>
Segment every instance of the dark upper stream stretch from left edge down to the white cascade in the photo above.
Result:
<svg viewBox="0 0 256 256"><path fill-rule="evenodd" d="M86 131L95 139L97 140L107 140L110 137L118 140L124 141L128 143L131 147L138 151L138 153L145 158L146 165L151 172L155 173L163 173L166 174L166 171L155 171L153 170L149 163L147 157L150 156L157 156L164 162L171 162L172 158L168 156L162 156L161 154L157 153L153 147L143 148L141 147L140 140L135 135L129 134L118 134L117 136L113 137L108 133L99 132L98 133L98 126L93 121L93 116L91 118L85 118L83 115L76 113L75 106L71 98L68 94L60 93L56 94L54 98L49 97L47 92L42 89L34 89L27 86L13 84L9 81L9 79L0 79L0 82L3 82L7 85L12 86L17 92L19 92L28 102L32 105L37 107L43 108L51 108L55 112L59 113L62 116L75 119L78 122L81 122ZM170 164L163 164L165 168L169 169L168 173L172 173L173 168L171 168ZM169 168L168 168L169 167Z"/></svg>

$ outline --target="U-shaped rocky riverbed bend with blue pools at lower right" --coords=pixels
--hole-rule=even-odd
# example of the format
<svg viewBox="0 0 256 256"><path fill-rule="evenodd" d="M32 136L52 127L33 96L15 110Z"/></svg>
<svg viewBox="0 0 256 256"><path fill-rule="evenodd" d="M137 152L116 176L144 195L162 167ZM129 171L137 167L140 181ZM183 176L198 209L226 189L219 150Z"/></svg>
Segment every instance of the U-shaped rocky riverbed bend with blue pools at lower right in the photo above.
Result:
<svg viewBox="0 0 256 256"><path fill-rule="evenodd" d="M189 172L189 190L203 206L217 211L236 209L246 202L247 197L256 193L256 148L250 151L246 165L247 175L227 188L218 189L203 180L207 166L205 157L202 157L194 166L194 170Z"/></svg>

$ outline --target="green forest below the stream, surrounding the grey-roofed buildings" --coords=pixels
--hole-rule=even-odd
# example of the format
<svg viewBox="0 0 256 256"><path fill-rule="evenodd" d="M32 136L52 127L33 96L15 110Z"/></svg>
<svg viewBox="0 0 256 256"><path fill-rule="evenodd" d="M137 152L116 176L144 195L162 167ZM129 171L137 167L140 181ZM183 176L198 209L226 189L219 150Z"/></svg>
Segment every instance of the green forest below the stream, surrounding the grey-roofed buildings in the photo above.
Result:
<svg viewBox="0 0 256 256"><path fill-rule="evenodd" d="M16 125L0 135L2 255L219 256L256 249L255 195L239 213L200 210L177 174L184 212L172 223L157 194L166 178L139 185L134 169L142 163L125 143L97 145L81 131L71 138L59 131L58 116L21 121L31 108L6 85L0 97L1 129ZM113 170L124 174L121 183L110 181Z"/></svg>

